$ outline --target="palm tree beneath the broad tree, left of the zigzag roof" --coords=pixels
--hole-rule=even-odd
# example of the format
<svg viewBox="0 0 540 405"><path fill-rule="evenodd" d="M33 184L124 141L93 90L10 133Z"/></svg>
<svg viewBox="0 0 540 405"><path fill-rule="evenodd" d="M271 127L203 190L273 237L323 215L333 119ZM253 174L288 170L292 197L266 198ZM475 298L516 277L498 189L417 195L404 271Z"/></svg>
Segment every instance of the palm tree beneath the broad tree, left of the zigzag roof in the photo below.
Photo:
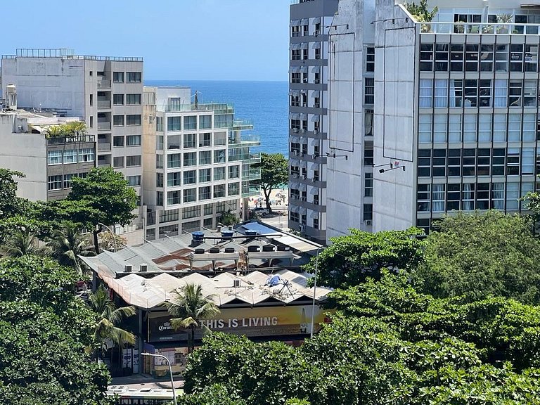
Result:
<svg viewBox="0 0 540 405"><path fill-rule="evenodd" d="M53 257L64 264L71 266L77 274L82 276L81 259L79 256L94 255L89 248L89 243L80 233L75 224L65 224L61 229L53 231L47 246L51 248Z"/></svg>

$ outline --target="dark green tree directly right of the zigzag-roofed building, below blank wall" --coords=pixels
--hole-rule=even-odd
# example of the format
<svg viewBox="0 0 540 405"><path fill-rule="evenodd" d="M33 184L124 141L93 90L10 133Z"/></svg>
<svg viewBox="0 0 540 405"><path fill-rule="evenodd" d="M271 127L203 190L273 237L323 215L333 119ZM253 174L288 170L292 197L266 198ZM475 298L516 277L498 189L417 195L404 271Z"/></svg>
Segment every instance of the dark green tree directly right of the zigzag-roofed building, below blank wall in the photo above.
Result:
<svg viewBox="0 0 540 405"><path fill-rule="evenodd" d="M319 253L317 283L341 287L363 283L367 277L378 278L380 270L415 269L423 260L423 234L418 228L377 233L350 229L348 236L330 238L332 244ZM304 269L315 273L317 257Z"/></svg>

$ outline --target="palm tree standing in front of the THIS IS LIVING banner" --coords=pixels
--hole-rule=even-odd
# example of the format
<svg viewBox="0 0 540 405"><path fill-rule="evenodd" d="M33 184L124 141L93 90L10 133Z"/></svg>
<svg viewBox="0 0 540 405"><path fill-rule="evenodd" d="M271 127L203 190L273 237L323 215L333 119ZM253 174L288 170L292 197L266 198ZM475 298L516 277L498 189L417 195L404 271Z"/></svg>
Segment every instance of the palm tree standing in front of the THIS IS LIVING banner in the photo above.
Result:
<svg viewBox="0 0 540 405"><path fill-rule="evenodd" d="M191 329L188 335L188 353L191 353L195 347L195 328L198 328L201 319L211 319L219 314L219 308L212 302L213 295L203 295L200 284L188 283L173 294L173 300L166 304L169 314L173 316L171 326L174 330Z"/></svg>

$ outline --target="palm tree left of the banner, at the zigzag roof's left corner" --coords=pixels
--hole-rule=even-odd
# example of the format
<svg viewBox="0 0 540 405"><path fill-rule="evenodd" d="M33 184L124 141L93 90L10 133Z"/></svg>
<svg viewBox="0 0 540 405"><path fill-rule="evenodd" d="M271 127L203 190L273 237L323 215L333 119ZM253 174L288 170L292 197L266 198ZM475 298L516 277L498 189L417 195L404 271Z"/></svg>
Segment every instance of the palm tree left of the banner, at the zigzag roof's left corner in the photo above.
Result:
<svg viewBox="0 0 540 405"><path fill-rule="evenodd" d="M90 295L88 302L91 309L94 309L98 314L98 323L96 323L96 330L94 330L94 342L100 345L100 349L103 349L108 340L111 340L119 347L125 343L131 345L135 343L135 335L119 327L124 318L136 314L134 307L117 308L115 303L110 300L108 291L105 290L103 284L99 286L96 293Z"/></svg>

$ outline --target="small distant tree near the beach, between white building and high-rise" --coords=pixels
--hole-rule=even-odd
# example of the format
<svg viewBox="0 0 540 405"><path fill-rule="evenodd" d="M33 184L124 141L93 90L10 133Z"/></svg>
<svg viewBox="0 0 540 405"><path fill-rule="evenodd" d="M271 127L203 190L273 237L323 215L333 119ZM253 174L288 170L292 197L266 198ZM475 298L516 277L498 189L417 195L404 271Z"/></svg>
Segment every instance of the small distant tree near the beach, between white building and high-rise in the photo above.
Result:
<svg viewBox="0 0 540 405"><path fill-rule="evenodd" d="M261 162L253 167L260 167L261 179L254 184L261 186L266 200L266 209L272 212L270 194L272 190L286 184L289 179L288 162L281 153L261 153Z"/></svg>

